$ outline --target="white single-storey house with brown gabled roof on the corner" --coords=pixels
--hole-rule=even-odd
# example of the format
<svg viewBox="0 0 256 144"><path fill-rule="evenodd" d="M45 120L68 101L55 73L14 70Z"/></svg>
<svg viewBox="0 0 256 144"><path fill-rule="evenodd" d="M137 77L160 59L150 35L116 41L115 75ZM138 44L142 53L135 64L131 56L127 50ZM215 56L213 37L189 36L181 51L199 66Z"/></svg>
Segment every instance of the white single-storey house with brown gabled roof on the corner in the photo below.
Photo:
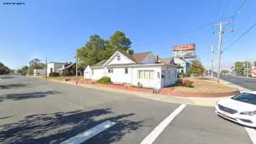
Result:
<svg viewBox="0 0 256 144"><path fill-rule="evenodd" d="M121 53L116 51L108 60L86 67L84 78L99 80L103 76L113 83L129 83L146 88L162 88L176 83L178 67L159 63L152 52Z"/></svg>

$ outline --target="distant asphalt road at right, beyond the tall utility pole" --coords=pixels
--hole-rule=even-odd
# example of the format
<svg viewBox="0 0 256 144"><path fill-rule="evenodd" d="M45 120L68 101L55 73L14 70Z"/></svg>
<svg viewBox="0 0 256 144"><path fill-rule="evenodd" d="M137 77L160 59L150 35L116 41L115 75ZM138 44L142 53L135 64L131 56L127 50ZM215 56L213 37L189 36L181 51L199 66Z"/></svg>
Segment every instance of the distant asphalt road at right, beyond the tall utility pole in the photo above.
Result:
<svg viewBox="0 0 256 144"><path fill-rule="evenodd" d="M251 91L256 91L256 79L247 77L238 77L233 75L221 75L222 80L226 80L230 83L234 83L238 86L247 88Z"/></svg>

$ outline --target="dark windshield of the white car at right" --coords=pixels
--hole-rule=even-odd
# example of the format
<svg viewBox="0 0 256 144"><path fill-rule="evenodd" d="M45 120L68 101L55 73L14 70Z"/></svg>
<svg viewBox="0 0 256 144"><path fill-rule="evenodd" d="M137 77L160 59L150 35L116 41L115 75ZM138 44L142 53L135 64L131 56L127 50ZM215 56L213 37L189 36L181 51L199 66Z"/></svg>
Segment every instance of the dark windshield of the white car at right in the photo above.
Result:
<svg viewBox="0 0 256 144"><path fill-rule="evenodd" d="M240 102L246 102L252 105L256 105L256 94L243 93L233 96L232 99L238 100Z"/></svg>

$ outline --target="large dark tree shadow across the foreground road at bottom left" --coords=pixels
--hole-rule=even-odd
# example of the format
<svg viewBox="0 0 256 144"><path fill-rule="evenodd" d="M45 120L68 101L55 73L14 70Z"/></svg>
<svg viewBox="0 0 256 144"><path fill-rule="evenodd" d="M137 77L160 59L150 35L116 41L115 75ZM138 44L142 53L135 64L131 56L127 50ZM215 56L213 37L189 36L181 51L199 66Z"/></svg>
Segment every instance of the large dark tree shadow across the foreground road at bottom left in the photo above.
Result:
<svg viewBox="0 0 256 144"><path fill-rule="evenodd" d="M0 126L0 143L61 143L108 120L116 124L113 129L106 130L105 138L99 135L95 143L113 143L121 140L124 134L139 129L143 122L127 119L134 113L107 117L110 113L113 114L110 108L105 108L29 115L17 123Z"/></svg>

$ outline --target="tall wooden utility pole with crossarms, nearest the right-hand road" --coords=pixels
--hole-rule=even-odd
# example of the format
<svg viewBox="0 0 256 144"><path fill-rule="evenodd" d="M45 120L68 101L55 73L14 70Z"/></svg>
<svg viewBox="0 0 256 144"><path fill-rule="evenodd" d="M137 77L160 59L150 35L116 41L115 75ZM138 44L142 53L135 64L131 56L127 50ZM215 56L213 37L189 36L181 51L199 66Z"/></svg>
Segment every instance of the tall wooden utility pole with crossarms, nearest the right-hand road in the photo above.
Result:
<svg viewBox="0 0 256 144"><path fill-rule="evenodd" d="M229 26L231 24L231 29L224 29L223 26L227 25ZM218 45L218 61L217 61L217 83L219 83L219 79L220 79L220 63L221 63L221 55L222 55L222 35L225 32L233 32L233 21L225 21L223 22L222 20L220 20L219 23L214 24L214 26L217 27L218 31L216 32L214 29L214 34L218 34L219 35L219 45Z"/></svg>

